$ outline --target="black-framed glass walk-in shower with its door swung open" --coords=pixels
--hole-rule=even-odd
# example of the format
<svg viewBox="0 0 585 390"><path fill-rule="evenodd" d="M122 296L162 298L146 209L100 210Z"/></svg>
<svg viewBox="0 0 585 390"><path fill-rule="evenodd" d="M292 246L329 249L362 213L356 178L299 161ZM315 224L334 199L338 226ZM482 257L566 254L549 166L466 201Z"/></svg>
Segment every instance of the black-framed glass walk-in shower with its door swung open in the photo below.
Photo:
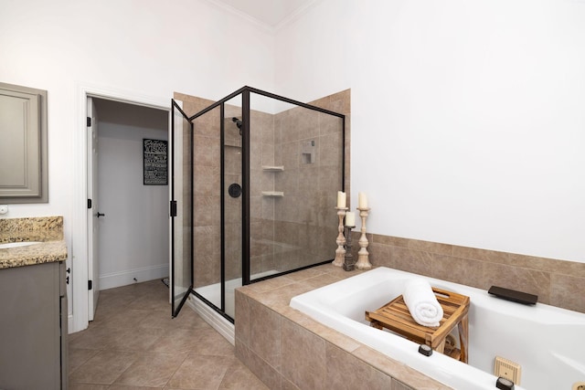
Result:
<svg viewBox="0 0 585 390"><path fill-rule="evenodd" d="M173 315L194 294L233 322L239 286L333 260L345 115L243 87L173 100Z"/></svg>

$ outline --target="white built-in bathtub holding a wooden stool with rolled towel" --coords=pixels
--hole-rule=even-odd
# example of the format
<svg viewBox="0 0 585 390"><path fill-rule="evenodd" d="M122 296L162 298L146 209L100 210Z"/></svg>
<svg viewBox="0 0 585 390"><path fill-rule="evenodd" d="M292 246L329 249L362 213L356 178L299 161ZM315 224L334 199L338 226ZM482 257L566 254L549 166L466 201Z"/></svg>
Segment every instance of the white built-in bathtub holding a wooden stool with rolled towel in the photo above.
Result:
<svg viewBox="0 0 585 390"><path fill-rule="evenodd" d="M415 277L420 275L372 269L298 295L290 305L455 389L495 389L495 356L521 365L518 390L585 385L585 314L580 312L541 303L527 306L495 298L486 290L425 277L433 287L471 298L469 364L441 353L424 356L417 343L370 327L365 311L375 311L399 296L405 281Z"/></svg>

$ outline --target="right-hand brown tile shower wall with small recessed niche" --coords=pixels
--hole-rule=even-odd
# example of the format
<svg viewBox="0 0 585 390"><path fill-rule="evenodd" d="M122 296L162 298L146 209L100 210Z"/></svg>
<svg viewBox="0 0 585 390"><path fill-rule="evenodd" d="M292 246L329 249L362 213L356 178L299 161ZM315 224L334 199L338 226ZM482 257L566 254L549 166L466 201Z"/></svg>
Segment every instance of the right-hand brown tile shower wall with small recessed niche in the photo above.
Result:
<svg viewBox="0 0 585 390"><path fill-rule="evenodd" d="M340 123L302 107L275 115L275 163L284 172L275 175L274 186L285 196L274 208L275 241L281 244L277 269L303 267L335 253L335 239L323 238L327 232L335 237L332 199L340 189Z"/></svg>

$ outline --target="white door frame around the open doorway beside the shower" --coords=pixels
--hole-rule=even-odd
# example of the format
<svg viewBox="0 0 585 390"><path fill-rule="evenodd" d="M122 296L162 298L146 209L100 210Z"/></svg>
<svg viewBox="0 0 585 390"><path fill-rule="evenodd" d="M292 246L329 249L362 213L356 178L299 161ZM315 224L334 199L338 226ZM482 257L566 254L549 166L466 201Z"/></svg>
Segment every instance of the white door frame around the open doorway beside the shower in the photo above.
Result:
<svg viewBox="0 0 585 390"><path fill-rule="evenodd" d="M75 118L76 132L73 135L73 154L75 165L74 200L71 220L71 314L69 315L69 332L80 332L89 324L89 259L88 259L88 213L87 213L87 181L88 181L88 152L87 152L87 99L88 97L106 100L117 100L123 103L150 107L168 112L169 136L172 131L170 125L171 97L153 97L143 93L120 90L89 83L77 83ZM169 186L170 192L170 186ZM169 246L169 248L172 248ZM170 269L169 250L169 269ZM170 292L169 292L170 296Z"/></svg>

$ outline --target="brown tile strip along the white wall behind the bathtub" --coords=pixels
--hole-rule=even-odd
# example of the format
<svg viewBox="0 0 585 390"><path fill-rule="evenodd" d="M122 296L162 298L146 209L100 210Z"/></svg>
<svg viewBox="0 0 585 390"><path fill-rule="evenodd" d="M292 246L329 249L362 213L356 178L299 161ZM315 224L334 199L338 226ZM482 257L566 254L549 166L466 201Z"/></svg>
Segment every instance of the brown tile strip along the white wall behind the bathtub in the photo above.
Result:
<svg viewBox="0 0 585 390"><path fill-rule="evenodd" d="M536 294L540 303L585 312L585 263L376 234L367 239L375 266L482 290L493 285L521 290Z"/></svg>

